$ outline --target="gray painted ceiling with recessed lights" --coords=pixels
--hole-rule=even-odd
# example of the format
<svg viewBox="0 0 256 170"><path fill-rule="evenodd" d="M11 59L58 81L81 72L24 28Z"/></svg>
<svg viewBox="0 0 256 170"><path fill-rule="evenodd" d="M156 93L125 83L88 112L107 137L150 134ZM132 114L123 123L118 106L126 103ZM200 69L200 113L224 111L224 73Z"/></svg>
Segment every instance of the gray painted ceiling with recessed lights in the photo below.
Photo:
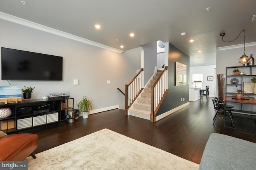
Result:
<svg viewBox="0 0 256 170"><path fill-rule="evenodd" d="M190 66L216 64L216 48L256 42L256 0L0 0L0 12L121 49L157 40L190 56ZM210 7L207 11L206 8ZM100 24L100 29L94 25ZM181 36L186 32L186 36ZM129 34L134 33L134 37ZM118 39L118 41L117 41ZM189 40L194 39L193 43ZM124 45L124 48L120 48ZM198 50L202 50L198 53ZM241 51L241 55L243 51Z"/></svg>

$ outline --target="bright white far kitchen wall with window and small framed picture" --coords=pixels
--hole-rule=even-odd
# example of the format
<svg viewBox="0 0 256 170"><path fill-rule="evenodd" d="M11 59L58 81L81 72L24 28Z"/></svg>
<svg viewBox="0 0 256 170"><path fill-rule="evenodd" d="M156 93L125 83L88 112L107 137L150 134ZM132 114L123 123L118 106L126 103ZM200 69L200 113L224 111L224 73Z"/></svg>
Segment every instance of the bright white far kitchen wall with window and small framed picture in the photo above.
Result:
<svg viewBox="0 0 256 170"><path fill-rule="evenodd" d="M192 87L192 75L193 74L203 74L203 89L209 86L210 97L216 96L216 65L208 66L195 66L189 68L189 86ZM208 76L213 76L213 81L207 80Z"/></svg>

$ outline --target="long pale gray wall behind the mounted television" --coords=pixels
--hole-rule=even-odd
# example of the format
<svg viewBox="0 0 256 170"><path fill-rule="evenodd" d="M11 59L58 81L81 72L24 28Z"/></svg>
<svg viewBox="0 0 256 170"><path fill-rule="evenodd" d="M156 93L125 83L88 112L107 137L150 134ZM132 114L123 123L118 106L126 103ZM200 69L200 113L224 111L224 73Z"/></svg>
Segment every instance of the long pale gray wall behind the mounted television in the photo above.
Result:
<svg viewBox="0 0 256 170"><path fill-rule="evenodd" d="M35 87L32 99L48 92L70 92L75 105L86 95L93 100L92 112L118 106L124 109L124 95L116 88L124 92L124 85L140 70L141 48L121 54L6 20L0 19L0 25L0 47L63 57L63 81L11 80L12 86ZM73 85L74 79L79 80L78 86ZM0 86L9 84L0 80Z"/></svg>

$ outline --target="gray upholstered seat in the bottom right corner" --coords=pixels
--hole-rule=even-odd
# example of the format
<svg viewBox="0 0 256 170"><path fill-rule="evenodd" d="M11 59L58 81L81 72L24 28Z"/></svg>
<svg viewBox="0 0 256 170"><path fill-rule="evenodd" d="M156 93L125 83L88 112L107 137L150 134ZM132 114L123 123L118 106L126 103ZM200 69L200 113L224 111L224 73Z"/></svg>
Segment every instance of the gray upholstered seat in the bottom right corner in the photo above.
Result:
<svg viewBox="0 0 256 170"><path fill-rule="evenodd" d="M256 170L256 143L212 133L199 170Z"/></svg>

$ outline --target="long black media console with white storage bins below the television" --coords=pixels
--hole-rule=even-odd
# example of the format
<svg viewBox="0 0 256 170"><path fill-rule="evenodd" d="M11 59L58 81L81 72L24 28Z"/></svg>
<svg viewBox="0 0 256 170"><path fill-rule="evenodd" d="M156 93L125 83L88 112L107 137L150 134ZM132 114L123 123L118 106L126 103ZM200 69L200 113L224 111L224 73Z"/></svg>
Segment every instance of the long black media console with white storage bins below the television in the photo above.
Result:
<svg viewBox="0 0 256 170"><path fill-rule="evenodd" d="M70 107L68 107L70 106ZM61 121L74 121L74 98L37 99L15 103L0 103L1 108L10 108L12 114L0 118L0 129L11 133Z"/></svg>

